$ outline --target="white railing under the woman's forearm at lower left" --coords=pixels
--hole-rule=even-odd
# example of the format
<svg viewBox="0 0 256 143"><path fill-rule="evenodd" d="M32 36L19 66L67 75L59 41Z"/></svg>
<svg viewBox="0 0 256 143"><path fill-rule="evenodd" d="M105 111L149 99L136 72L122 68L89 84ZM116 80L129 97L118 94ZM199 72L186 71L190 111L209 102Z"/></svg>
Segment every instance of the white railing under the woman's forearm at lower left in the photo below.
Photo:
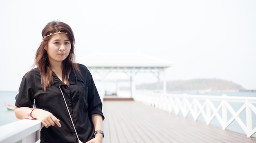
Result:
<svg viewBox="0 0 256 143"><path fill-rule="evenodd" d="M36 143L42 127L40 121L30 119L0 126L0 143Z"/></svg>

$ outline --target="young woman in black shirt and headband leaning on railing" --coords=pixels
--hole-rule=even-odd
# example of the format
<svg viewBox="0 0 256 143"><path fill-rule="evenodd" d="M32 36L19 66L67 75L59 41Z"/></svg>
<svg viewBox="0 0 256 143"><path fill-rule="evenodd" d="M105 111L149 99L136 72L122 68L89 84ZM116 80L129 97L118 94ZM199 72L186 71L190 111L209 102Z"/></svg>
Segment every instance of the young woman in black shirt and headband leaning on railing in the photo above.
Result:
<svg viewBox="0 0 256 143"><path fill-rule="evenodd" d="M42 36L37 67L22 78L16 96L16 117L41 121L41 143L101 143L102 103L87 67L74 63L72 29L53 21Z"/></svg>

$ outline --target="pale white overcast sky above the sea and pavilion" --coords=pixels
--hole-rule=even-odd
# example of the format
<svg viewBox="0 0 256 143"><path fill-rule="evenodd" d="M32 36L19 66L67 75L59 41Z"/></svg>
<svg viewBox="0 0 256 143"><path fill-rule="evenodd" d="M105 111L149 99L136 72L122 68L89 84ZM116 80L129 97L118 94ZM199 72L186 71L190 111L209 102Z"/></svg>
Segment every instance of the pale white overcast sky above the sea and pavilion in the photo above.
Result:
<svg viewBox="0 0 256 143"><path fill-rule="evenodd" d="M256 0L1 0L0 91L18 91L52 20L71 26L77 56L140 52L174 63L167 80L256 89Z"/></svg>

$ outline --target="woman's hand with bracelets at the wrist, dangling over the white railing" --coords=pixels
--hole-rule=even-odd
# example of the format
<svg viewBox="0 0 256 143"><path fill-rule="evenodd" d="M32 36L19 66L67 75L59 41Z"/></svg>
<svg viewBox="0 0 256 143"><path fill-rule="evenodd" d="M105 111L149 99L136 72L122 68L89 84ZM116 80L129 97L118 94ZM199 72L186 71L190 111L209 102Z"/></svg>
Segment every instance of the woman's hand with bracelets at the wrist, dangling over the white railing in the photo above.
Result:
<svg viewBox="0 0 256 143"><path fill-rule="evenodd" d="M60 120L52 115L52 113L50 113L49 111L36 108L32 111L31 117L41 121L45 128L48 128L49 126L55 126L55 124L61 128Z"/></svg>

